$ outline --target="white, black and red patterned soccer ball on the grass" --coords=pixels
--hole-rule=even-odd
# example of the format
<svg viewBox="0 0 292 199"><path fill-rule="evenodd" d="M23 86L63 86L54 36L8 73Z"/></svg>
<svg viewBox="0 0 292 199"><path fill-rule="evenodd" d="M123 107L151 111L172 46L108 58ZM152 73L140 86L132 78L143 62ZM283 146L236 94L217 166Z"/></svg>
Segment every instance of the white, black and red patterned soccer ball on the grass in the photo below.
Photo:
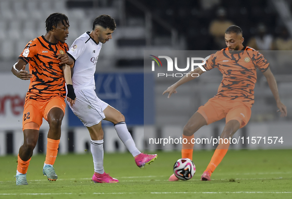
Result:
<svg viewBox="0 0 292 199"><path fill-rule="evenodd" d="M178 159L173 165L173 173L180 180L189 180L195 175L196 166L188 158Z"/></svg>

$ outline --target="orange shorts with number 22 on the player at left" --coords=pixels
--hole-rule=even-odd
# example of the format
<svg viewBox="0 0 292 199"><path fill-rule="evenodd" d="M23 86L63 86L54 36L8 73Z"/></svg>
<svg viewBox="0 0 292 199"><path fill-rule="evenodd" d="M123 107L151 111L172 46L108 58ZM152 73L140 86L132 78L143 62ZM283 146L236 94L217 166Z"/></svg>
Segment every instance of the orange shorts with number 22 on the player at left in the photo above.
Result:
<svg viewBox="0 0 292 199"><path fill-rule="evenodd" d="M65 114L66 103L62 97L53 97L48 101L40 102L37 100L29 99L24 104L22 126L24 129L36 129L31 128L30 125L24 126L26 123L35 122L40 126L42 125L42 118L47 120L47 114L54 108L60 108ZM37 129L39 130L39 129Z"/></svg>

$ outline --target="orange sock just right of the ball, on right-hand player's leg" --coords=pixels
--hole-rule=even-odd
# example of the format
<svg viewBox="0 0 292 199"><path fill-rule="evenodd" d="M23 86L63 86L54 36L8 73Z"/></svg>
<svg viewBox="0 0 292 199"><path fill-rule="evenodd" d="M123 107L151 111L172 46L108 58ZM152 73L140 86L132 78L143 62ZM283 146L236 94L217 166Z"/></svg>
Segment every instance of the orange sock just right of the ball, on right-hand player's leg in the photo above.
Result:
<svg viewBox="0 0 292 199"><path fill-rule="evenodd" d="M228 144L219 144L212 156L212 159L210 163L207 166L207 169L205 171L208 171L208 173L211 174L215 170L215 168L219 165L219 163L222 161L224 156L226 155L227 151L229 148L229 143Z"/></svg>

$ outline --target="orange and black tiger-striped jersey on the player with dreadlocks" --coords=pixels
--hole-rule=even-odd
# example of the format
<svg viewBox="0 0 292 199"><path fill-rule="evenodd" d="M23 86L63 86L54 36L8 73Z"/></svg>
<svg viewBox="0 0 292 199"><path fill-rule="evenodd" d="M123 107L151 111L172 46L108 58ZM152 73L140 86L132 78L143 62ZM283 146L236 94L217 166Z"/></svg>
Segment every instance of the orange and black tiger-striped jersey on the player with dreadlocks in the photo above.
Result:
<svg viewBox="0 0 292 199"><path fill-rule="evenodd" d="M29 71L33 75L26 100L46 101L55 96L65 98L65 80L57 54L64 54L68 49L67 43L51 43L43 36L25 46L18 58L29 63Z"/></svg>

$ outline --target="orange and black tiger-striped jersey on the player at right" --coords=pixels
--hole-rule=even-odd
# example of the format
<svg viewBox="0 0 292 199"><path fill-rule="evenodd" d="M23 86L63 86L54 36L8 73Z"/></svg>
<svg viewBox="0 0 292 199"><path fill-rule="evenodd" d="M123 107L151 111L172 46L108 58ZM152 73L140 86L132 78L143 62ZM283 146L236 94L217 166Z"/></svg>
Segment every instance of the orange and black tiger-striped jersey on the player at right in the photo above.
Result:
<svg viewBox="0 0 292 199"><path fill-rule="evenodd" d="M254 103L256 68L265 72L269 63L262 54L250 47L244 47L244 50L237 52L224 48L210 55L203 67L206 71L218 68L223 75L218 93L214 97L242 101L251 107Z"/></svg>

